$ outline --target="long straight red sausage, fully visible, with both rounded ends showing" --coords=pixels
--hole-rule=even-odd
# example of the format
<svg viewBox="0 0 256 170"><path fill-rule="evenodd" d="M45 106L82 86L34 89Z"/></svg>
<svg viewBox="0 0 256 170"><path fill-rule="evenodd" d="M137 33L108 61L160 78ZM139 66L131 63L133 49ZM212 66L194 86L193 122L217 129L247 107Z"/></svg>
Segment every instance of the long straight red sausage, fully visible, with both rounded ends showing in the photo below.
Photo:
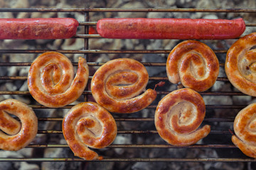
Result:
<svg viewBox="0 0 256 170"><path fill-rule="evenodd" d="M97 22L103 38L126 39L203 39L238 38L245 30L242 18L104 18Z"/></svg>

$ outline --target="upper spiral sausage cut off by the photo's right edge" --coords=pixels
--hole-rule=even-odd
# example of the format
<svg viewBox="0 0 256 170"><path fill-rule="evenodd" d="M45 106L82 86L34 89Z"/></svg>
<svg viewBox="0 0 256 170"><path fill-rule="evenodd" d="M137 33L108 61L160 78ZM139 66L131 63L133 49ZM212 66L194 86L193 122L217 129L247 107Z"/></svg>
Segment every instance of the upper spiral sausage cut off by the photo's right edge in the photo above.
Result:
<svg viewBox="0 0 256 170"><path fill-rule="evenodd" d="M242 93L256 96L256 33L245 35L228 50L225 72L229 81Z"/></svg>

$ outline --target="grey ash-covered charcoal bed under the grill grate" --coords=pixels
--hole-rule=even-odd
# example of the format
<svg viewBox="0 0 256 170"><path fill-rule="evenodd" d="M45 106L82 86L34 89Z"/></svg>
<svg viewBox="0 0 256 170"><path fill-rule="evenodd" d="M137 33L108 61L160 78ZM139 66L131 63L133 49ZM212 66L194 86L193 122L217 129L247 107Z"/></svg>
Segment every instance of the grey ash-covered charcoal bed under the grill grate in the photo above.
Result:
<svg viewBox="0 0 256 170"><path fill-rule="evenodd" d="M65 0L0 0L0 8L256 8L254 0L96 0L96 1L65 1ZM242 17L245 22L253 23L255 13L167 13L167 12L99 12L90 13L90 21L98 21L101 18L223 18L234 19ZM51 18L71 17L78 21L85 21L84 13L0 13L0 18ZM255 32L254 27L247 27L245 33ZM79 26L77 34L83 34L84 27ZM112 40L105 38L91 38L89 49L91 50L171 50L181 40ZM201 40L213 50L227 50L235 40ZM0 40L0 50L82 50L84 40L82 38L70 38L68 40ZM11 54L0 53L1 62L33 62L39 54ZM78 62L82 54L65 54L72 62ZM220 63L225 62L225 53L216 54ZM107 62L119 57L129 57L140 62L166 62L168 54L89 54L87 62ZM29 67L0 67L0 76L26 77ZM90 67L92 76L97 67ZM147 68L150 77L166 77L165 67ZM224 67L220 67L219 77L226 77ZM149 81L147 88L154 88L159 81ZM89 83L90 84L90 81ZM157 91L174 91L176 84L166 81L164 87ZM0 91L28 91L26 80L1 80ZM208 91L237 91L229 81L216 81ZM153 105L163 98L159 95ZM6 98L16 98L27 104L38 104L30 95L0 95L0 101ZM92 98L89 96L89 98ZM250 96L203 96L206 105L247 105L254 100ZM83 98L72 104L80 103ZM63 118L68 109L34 109L38 118ZM240 109L207 109L206 118L235 118ZM154 118L154 108L146 108L138 113L113 114L114 118ZM211 125L211 130L233 130L232 122L206 121L203 124ZM149 122L117 122L118 130L156 130L154 121ZM40 121L38 130L61 130L60 121ZM38 134L33 143L66 144L62 134ZM158 134L119 134L113 144L117 145L167 145ZM233 145L231 134L210 134L198 142L198 145ZM190 149L190 148L105 148L95 149L105 158L174 158L174 159L201 159L201 158L247 158L239 149ZM1 158L76 158L69 148L24 148L18 152L0 151ZM254 163L246 162L0 162L0 169L254 169Z"/></svg>

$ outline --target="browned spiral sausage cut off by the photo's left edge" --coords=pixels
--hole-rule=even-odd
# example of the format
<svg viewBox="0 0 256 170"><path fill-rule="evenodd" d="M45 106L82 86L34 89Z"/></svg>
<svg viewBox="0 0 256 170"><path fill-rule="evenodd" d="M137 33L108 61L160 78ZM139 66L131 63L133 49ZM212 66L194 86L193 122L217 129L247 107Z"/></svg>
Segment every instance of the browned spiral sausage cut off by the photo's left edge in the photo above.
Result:
<svg viewBox="0 0 256 170"><path fill-rule="evenodd" d="M8 113L16 115L21 123ZM38 131L38 119L32 108L15 99L0 102L0 148L17 151L26 147ZM8 135L6 135L8 134Z"/></svg>

